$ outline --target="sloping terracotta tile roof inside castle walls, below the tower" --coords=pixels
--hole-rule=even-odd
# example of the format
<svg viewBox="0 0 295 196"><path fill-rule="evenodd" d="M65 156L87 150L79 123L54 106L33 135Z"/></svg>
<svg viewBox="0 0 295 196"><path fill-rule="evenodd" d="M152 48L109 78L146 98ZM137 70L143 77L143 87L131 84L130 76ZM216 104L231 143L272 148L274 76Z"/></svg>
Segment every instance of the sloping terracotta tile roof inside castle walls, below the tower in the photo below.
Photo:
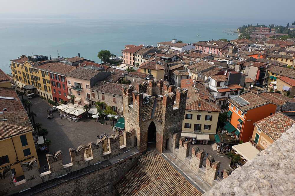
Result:
<svg viewBox="0 0 295 196"><path fill-rule="evenodd" d="M202 195L160 154L150 151L115 185L119 194L129 195Z"/></svg>

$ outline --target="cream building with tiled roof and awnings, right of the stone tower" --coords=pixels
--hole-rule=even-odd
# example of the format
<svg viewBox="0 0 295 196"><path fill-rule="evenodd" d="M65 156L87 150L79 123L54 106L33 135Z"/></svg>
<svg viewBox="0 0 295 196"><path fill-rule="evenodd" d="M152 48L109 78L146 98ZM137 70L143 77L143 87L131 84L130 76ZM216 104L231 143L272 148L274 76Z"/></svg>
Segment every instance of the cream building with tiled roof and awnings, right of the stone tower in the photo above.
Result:
<svg viewBox="0 0 295 196"><path fill-rule="evenodd" d="M214 141L220 107L210 101L208 98L210 93L205 86L199 83L194 84L193 79L182 80L181 88L188 89L181 136ZM196 92L195 88L199 91Z"/></svg>

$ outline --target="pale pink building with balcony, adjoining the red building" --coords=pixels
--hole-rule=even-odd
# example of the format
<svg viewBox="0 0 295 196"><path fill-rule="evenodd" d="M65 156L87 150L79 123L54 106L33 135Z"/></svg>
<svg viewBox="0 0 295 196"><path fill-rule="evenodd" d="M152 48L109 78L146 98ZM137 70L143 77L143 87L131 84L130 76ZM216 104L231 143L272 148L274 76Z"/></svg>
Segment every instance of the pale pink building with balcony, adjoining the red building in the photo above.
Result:
<svg viewBox="0 0 295 196"><path fill-rule="evenodd" d="M96 82L103 80L106 76L110 75L109 72L96 71L93 69L77 68L70 73L66 74L68 85L67 99L74 95L75 104L78 105L94 105L91 98L90 88Z"/></svg>

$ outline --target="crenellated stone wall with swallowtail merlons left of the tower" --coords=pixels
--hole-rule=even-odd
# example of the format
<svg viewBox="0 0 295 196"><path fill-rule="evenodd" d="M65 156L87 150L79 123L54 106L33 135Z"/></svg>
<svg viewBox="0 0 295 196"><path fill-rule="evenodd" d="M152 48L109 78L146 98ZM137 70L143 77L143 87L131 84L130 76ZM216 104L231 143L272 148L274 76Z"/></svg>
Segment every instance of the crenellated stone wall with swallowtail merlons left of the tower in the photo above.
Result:
<svg viewBox="0 0 295 196"><path fill-rule="evenodd" d="M104 150L104 146L107 147L106 150ZM104 137L103 139L97 140L96 143L90 142L88 145L80 145L77 149L69 148L71 163L66 165L63 165L63 152L61 150L58 150L55 155L47 154L46 157L49 165L49 171L47 172L39 172L36 159L33 159L29 163L21 163L25 180L16 183L13 182L12 173L10 168L7 167L3 173L0 173L0 195L11 195L28 188L34 189L34 187L38 187L37 185L41 183L50 184L57 179L62 179L61 177L65 175L79 176L86 170L92 171L100 168L99 164L102 165L101 167L117 164L117 162L124 161L124 157L128 155L126 152L130 151L133 147L135 147L134 131L132 133L124 131L123 135L116 134L110 137ZM136 150L136 152L138 151ZM128 162L128 160L125 161ZM133 164L134 160L131 162ZM129 167L131 165L126 166L126 168ZM117 168L117 172L116 170L109 173L106 173L106 171L102 172L104 175L109 175L110 177L104 177L106 181L101 183L101 185L96 185L95 189L100 187L102 188L101 190L104 190L104 186L112 187L112 183L115 183L112 177L118 180L124 172L127 172L127 170L121 169L122 171L120 168ZM100 175L98 172L96 177L102 178ZM67 189L67 187L64 188L65 190ZM108 188L105 190L108 190Z"/></svg>

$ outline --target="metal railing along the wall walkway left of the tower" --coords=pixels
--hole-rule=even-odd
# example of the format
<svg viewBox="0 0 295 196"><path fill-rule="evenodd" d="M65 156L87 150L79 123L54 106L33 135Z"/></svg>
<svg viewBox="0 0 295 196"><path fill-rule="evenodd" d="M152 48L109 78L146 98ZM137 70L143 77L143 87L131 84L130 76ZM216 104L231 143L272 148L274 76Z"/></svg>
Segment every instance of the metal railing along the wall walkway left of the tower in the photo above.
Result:
<svg viewBox="0 0 295 196"><path fill-rule="evenodd" d="M132 155L135 155L136 153L139 153L139 151L137 150L136 147L134 147L134 148L131 148L130 150L125 151L124 153L121 153L112 158L109 158L108 160L94 163L92 165L89 165L88 167L81 165L81 169L66 173L64 175L56 176L55 173L53 173L52 175L55 175L53 179L47 180L40 184L33 183L33 181L31 181L32 179L26 179L27 183L31 182L31 187L27 188L26 190L22 190L18 193L15 193L14 195L34 195L36 193L42 192L43 190L47 188L54 187L61 183L68 182L69 180L73 180L75 178L86 175L88 173L95 172L104 167L108 167L109 165L113 165L121 160L124 160Z"/></svg>

